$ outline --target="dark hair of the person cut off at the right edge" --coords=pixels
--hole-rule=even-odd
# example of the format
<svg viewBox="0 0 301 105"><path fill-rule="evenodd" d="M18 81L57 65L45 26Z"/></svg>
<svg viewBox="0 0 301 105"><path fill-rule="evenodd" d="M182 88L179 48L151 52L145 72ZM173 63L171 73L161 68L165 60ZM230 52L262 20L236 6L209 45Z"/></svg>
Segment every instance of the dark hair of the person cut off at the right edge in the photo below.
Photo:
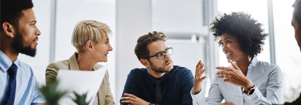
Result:
<svg viewBox="0 0 301 105"><path fill-rule="evenodd" d="M299 29L301 30L301 0L296 0L293 4L294 10L294 18L299 24Z"/></svg>

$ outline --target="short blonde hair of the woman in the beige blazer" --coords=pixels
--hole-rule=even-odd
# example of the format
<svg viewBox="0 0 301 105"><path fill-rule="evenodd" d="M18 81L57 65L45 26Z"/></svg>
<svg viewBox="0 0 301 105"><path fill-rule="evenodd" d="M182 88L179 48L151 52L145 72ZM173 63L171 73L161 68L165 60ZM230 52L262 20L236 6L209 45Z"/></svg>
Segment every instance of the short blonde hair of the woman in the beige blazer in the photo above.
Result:
<svg viewBox="0 0 301 105"><path fill-rule="evenodd" d="M105 23L95 20L80 21L74 27L71 44L76 48L77 53L82 53L87 41L91 40L98 44L106 33L112 35L112 30Z"/></svg>

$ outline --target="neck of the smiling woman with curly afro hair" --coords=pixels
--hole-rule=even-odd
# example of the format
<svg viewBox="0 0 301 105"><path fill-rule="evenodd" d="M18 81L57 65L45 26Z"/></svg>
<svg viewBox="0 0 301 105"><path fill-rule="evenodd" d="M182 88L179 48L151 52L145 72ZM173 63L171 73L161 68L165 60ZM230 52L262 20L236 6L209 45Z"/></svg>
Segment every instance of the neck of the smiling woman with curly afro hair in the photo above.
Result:
<svg viewBox="0 0 301 105"><path fill-rule="evenodd" d="M241 72L243 72L243 74L245 76L247 76L248 67L250 65L251 60L252 60L252 58L250 58L249 56L247 56L244 59L235 61L235 64L241 70Z"/></svg>

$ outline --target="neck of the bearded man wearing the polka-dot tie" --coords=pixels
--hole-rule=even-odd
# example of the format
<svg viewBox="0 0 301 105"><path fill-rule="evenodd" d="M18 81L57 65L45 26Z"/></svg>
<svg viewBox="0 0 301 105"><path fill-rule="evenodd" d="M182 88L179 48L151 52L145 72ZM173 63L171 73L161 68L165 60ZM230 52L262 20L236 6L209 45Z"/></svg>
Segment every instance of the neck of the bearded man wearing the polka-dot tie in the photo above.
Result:
<svg viewBox="0 0 301 105"><path fill-rule="evenodd" d="M11 48L11 44L10 43L7 43L5 41L1 41L1 42L4 42L4 43L1 43L0 50L6 56L8 56L8 58L11 59L12 62L14 62L17 59L19 53L16 52L13 48Z"/></svg>

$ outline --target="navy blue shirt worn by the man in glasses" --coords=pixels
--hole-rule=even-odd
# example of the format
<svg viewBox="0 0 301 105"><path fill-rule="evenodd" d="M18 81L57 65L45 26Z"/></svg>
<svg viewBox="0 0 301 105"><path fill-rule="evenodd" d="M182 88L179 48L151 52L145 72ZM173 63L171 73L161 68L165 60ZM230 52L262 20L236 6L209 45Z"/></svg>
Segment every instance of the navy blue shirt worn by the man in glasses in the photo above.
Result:
<svg viewBox="0 0 301 105"><path fill-rule="evenodd" d="M144 101L156 103L156 79L146 68L131 70L121 97L126 97L124 93L128 93ZM194 76L191 70L173 66L171 71L166 72L159 79L162 81L162 105L192 105L190 90L194 86ZM127 105L121 101L120 105Z"/></svg>

